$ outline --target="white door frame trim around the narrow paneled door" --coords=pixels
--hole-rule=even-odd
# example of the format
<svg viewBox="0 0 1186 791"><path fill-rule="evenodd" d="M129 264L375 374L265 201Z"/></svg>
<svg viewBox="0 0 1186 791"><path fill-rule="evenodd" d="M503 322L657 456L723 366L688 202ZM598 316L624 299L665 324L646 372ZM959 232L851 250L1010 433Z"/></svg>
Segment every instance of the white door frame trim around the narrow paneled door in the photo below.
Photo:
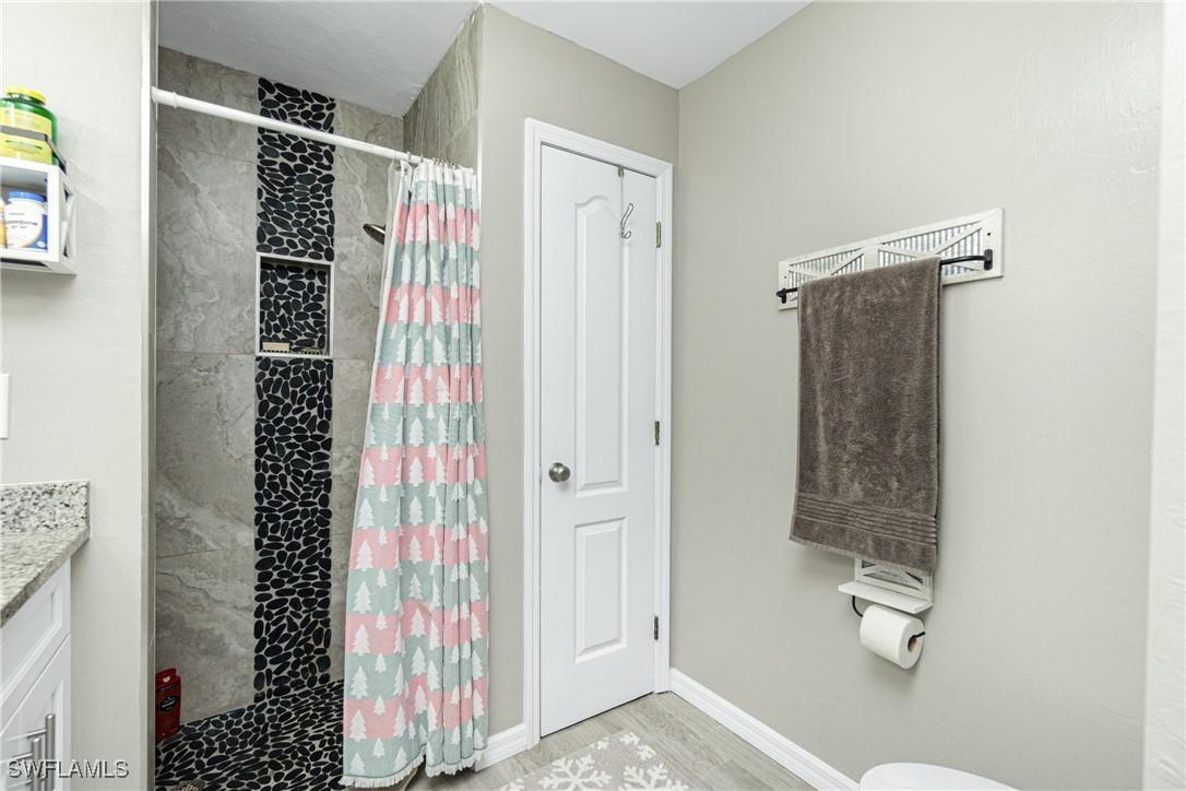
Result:
<svg viewBox="0 0 1186 791"><path fill-rule="evenodd" d="M540 742L540 524L542 458L540 426L542 365L540 346L541 256L540 177L544 146L598 159L656 179L655 216L662 223L658 248L658 339L656 416L661 421L656 453L655 611L659 637L655 643L655 691L670 688L670 546L671 546L671 162L639 154L550 123L524 121L523 151L523 726L525 748Z"/></svg>

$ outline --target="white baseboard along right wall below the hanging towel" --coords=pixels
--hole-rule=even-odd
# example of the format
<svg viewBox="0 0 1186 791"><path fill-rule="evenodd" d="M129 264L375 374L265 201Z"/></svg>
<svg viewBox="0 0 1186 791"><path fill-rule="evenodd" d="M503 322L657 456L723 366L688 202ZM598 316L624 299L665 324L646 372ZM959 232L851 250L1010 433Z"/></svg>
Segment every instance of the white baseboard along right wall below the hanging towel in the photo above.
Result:
<svg viewBox="0 0 1186 791"><path fill-rule="evenodd" d="M856 789L856 783L843 772L825 764L764 722L746 714L733 703L671 668L671 691L713 717L726 728L769 755L786 771L806 780L816 789Z"/></svg>

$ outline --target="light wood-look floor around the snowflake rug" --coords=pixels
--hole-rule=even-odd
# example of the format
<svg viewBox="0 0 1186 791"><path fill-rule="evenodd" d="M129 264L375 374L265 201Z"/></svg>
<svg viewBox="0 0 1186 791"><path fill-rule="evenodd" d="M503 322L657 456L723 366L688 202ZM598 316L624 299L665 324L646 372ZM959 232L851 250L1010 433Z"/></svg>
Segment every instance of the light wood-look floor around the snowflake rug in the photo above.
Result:
<svg viewBox="0 0 1186 791"><path fill-rule="evenodd" d="M633 731L667 755L697 790L810 789L811 786L671 693L648 695L544 736L535 748L480 772L426 778L410 789L497 789L601 736Z"/></svg>

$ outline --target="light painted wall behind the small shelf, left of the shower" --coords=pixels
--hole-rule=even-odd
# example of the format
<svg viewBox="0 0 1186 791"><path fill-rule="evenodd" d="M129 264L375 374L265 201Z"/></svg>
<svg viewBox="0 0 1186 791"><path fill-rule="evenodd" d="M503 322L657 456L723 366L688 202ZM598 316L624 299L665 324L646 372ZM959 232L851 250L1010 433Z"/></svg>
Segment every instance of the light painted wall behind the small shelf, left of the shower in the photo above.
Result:
<svg viewBox="0 0 1186 791"><path fill-rule="evenodd" d="M130 774L117 784L148 787L151 8L5 2L0 17L4 82L47 96L78 196L78 275L0 275L2 369L12 375L2 483L90 480L90 540L71 574L71 749L113 767L123 759Z"/></svg>

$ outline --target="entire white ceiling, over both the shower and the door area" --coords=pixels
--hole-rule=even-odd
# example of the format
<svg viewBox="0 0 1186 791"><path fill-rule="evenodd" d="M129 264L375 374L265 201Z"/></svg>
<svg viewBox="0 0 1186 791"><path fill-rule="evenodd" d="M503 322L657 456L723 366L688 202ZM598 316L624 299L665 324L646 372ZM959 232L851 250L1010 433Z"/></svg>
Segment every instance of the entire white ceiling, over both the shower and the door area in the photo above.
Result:
<svg viewBox="0 0 1186 791"><path fill-rule="evenodd" d="M806 1L495 0L493 5L683 88ZM472 0L170 0L160 4L160 44L402 116L476 5Z"/></svg>

